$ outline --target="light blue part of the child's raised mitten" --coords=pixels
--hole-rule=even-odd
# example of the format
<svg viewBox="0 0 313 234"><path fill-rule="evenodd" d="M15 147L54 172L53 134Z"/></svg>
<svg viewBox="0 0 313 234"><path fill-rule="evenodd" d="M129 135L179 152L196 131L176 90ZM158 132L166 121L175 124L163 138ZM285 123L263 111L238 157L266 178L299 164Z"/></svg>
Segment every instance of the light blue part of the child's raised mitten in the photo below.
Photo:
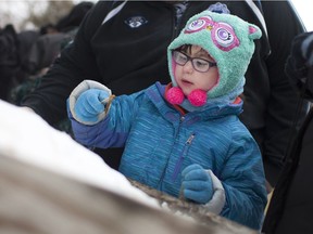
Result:
<svg viewBox="0 0 313 234"><path fill-rule="evenodd" d="M104 112L101 103L109 98L109 93L100 89L89 89L83 92L74 106L76 118L82 122L97 122L99 114Z"/></svg>

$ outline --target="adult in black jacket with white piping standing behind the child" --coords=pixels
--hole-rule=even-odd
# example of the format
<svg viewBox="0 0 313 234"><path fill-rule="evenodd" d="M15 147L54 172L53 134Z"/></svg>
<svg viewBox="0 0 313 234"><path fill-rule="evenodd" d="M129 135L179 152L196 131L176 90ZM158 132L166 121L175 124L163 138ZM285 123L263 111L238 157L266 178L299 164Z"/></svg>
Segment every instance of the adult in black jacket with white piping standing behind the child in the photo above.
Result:
<svg viewBox="0 0 313 234"><path fill-rule="evenodd" d="M221 12L229 11L258 25L264 35L255 42L246 74L241 119L262 150L266 179L274 185L298 107L298 95L284 74L284 64L292 38L303 27L289 1L264 1L262 9L259 3L223 1L218 6ZM215 4L215 1L99 1L84 20L73 43L63 50L41 86L22 105L53 125L66 118L65 101L84 79L99 81L116 95L139 91L156 80L167 83L171 80L167 46L189 17ZM302 108L302 115L304 112ZM123 150L95 151L117 168L120 161L110 160L120 158Z"/></svg>

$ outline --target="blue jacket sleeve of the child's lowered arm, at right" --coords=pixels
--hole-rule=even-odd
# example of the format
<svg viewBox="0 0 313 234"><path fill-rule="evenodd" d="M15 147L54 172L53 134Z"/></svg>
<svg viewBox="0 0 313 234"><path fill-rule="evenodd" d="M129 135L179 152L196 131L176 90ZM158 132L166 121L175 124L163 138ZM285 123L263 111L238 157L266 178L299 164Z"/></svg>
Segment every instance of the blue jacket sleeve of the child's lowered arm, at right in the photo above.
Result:
<svg viewBox="0 0 313 234"><path fill-rule="evenodd" d="M226 204L221 214L255 230L261 229L267 203L265 177L258 144L240 128L234 128L224 170Z"/></svg>

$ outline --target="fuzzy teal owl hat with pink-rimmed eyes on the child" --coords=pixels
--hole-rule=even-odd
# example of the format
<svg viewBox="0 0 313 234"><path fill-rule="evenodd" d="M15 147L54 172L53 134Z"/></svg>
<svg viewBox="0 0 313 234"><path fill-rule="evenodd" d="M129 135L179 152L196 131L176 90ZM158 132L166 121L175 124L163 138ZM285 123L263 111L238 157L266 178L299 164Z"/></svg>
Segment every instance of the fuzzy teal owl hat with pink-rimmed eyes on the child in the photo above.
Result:
<svg viewBox="0 0 313 234"><path fill-rule="evenodd" d="M216 62L218 81L208 91L209 99L218 99L231 93L233 99L243 91L245 74L254 52L254 39L262 36L260 28L230 15L203 11L192 16L180 35L168 46L168 70L174 87L177 87L172 51L195 44L204 49Z"/></svg>

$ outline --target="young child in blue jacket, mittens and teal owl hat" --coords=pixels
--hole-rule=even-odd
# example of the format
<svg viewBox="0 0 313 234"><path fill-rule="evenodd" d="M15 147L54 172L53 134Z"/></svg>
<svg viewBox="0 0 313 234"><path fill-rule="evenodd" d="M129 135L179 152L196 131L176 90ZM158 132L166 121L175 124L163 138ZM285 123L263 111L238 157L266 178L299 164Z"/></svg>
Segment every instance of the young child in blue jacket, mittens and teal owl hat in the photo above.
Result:
<svg viewBox="0 0 313 234"><path fill-rule="evenodd" d="M260 37L256 26L237 16L195 15L168 47L172 83L114 98L86 80L72 92L76 140L88 147L125 146L120 171L126 177L260 229L262 158L238 119L238 95Z"/></svg>

